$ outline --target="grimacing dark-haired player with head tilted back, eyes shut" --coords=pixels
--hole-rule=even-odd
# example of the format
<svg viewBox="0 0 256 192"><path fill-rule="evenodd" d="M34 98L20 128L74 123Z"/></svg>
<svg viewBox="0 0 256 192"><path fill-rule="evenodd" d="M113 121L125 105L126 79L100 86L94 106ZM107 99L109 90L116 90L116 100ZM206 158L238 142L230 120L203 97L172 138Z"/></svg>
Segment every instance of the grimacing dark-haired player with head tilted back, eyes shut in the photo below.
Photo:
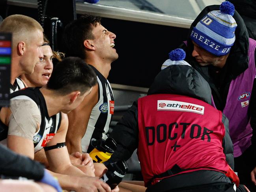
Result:
<svg viewBox="0 0 256 192"><path fill-rule="evenodd" d="M65 53L78 56L88 63L98 81L91 94L68 115L69 153L90 153L93 149L90 144L92 138L107 138L114 113L114 97L107 77L111 63L118 58L113 48L115 38L115 34L101 25L101 17L85 15L64 29Z"/></svg>

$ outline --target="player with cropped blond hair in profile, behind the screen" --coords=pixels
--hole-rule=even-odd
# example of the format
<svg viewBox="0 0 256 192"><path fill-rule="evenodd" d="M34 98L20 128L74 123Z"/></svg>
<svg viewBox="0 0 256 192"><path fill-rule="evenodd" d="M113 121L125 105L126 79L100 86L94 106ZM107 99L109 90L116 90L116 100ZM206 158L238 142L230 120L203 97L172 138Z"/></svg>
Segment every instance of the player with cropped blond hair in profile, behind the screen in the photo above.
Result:
<svg viewBox="0 0 256 192"><path fill-rule="evenodd" d="M24 87L20 75L34 72L43 59L43 28L25 15L10 15L0 25L0 32L12 33L11 92Z"/></svg>

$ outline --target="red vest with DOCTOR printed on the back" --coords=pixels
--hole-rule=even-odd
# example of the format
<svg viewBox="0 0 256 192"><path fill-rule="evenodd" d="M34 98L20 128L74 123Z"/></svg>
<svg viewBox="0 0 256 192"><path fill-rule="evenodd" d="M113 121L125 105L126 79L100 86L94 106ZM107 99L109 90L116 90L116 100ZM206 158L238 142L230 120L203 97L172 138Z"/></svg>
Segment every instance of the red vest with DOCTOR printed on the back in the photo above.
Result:
<svg viewBox="0 0 256 192"><path fill-rule="evenodd" d="M145 186L163 179L154 176L174 165L184 170L177 174L228 170L222 113L203 101L172 94L142 97L138 99L138 129L137 154Z"/></svg>

